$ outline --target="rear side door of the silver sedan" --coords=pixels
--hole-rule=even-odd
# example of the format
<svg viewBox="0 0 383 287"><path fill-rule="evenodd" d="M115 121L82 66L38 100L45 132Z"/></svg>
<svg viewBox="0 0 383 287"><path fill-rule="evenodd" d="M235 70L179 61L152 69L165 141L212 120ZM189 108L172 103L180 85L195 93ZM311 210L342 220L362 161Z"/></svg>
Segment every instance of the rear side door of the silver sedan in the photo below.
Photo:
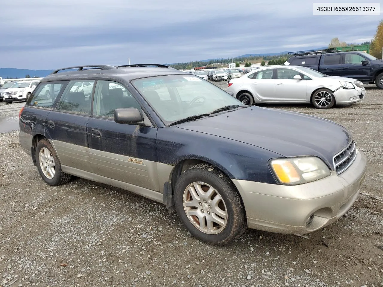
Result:
<svg viewBox="0 0 383 287"><path fill-rule="evenodd" d="M275 100L274 70L265 68L250 75L250 88L258 101L273 102Z"/></svg>

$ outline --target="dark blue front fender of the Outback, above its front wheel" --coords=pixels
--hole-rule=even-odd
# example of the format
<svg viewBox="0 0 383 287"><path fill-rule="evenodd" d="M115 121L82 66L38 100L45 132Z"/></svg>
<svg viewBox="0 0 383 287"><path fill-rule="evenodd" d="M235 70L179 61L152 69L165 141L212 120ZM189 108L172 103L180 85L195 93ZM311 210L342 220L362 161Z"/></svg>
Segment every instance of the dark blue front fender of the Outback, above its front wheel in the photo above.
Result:
<svg viewBox="0 0 383 287"><path fill-rule="evenodd" d="M268 160L281 157L248 143L176 126L158 129L157 154L158 161L167 165L187 159L201 160L216 166L231 179L271 184L277 182Z"/></svg>

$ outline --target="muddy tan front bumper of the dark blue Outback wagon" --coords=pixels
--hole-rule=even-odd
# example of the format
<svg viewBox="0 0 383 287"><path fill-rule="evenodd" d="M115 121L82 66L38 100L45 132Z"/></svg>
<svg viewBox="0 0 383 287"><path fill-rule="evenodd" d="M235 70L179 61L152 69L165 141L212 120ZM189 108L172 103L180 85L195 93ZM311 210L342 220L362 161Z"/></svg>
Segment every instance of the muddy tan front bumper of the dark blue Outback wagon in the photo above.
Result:
<svg viewBox="0 0 383 287"><path fill-rule="evenodd" d="M309 233L342 217L354 204L367 171L357 150L350 167L337 175L296 186L232 179L245 205L249 228L277 233ZM313 215L312 222L306 223Z"/></svg>

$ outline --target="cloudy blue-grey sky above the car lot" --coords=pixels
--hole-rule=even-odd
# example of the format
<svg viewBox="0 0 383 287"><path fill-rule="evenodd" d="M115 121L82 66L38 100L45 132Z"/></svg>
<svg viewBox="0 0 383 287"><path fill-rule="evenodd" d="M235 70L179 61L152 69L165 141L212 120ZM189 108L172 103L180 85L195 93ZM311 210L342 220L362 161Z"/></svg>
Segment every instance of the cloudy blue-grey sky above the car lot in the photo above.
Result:
<svg viewBox="0 0 383 287"><path fill-rule="evenodd" d="M334 37L369 41L382 18L313 16L309 0L3 1L0 68L122 65L128 57L132 64L175 63L297 51L327 46Z"/></svg>

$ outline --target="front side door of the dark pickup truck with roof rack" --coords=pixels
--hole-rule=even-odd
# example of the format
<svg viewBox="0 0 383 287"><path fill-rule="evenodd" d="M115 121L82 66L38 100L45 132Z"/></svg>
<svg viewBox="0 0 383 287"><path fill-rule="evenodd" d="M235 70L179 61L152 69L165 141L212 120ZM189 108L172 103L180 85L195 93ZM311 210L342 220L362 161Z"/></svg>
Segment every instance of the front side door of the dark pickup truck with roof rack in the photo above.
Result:
<svg viewBox="0 0 383 287"><path fill-rule="evenodd" d="M367 60L365 57L357 53L344 54L343 76L354 78L357 80L368 80L371 70L371 62L367 65L362 65L362 62Z"/></svg>

